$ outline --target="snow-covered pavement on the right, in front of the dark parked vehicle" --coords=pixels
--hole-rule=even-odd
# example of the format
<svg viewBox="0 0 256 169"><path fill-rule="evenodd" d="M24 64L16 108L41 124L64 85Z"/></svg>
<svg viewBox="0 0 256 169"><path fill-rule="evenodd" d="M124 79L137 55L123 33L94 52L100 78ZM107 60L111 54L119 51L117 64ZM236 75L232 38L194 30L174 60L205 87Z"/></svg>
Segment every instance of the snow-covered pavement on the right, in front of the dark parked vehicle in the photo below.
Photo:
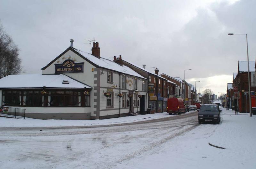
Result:
<svg viewBox="0 0 256 169"><path fill-rule="evenodd" d="M256 168L256 116L222 108L219 125L195 129L116 168ZM208 143L226 149L210 146Z"/></svg>

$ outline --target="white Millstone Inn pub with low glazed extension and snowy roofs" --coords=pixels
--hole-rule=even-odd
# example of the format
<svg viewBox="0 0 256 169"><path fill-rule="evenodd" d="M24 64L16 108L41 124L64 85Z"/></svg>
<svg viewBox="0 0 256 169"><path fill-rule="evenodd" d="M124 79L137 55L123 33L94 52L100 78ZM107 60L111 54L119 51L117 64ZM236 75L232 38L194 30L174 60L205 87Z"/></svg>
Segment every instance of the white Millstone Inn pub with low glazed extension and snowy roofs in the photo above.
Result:
<svg viewBox="0 0 256 169"><path fill-rule="evenodd" d="M93 43L92 54L70 42L42 74L0 79L2 106L26 109L25 116L36 119L106 119L147 111L147 78L125 66L121 57L100 57L98 42ZM161 102L162 111L163 105L166 102Z"/></svg>

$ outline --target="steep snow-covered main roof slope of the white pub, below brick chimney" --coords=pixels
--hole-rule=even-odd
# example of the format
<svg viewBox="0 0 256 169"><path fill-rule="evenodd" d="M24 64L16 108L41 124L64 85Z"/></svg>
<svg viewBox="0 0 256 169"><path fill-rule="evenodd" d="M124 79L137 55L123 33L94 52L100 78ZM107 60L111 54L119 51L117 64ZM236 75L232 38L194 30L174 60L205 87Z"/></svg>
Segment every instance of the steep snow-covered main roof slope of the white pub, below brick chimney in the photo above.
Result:
<svg viewBox="0 0 256 169"><path fill-rule="evenodd" d="M137 77L145 79L143 76L141 76L140 74L138 74L137 72L132 70L130 67L127 67L125 65L121 66L121 65L117 64L116 62L113 62L112 60L108 60L108 59L103 58L103 57L97 58L97 57L93 56L90 53L80 51L76 48L73 48L73 49L76 52L78 52L79 54L81 54L82 56L84 56L86 59L88 59L91 62L93 62L94 64L98 65L99 67L107 68L107 69L110 69L110 70L114 70L114 71L117 71L117 72L121 72L121 73L124 73L124 74L129 74L129 75L132 75L132 76L137 76Z"/></svg>

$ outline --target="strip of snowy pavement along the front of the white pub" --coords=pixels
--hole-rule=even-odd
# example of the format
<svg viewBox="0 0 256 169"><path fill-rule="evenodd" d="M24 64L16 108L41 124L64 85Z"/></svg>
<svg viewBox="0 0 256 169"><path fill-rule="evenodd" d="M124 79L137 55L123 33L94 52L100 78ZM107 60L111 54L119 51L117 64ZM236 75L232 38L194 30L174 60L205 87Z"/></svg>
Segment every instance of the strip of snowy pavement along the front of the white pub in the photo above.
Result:
<svg viewBox="0 0 256 169"><path fill-rule="evenodd" d="M195 111L187 112L192 113ZM168 113L155 113L138 116L126 116L120 118L111 118L104 120L40 120L33 118L14 119L0 117L0 127L60 127L60 126L92 126L92 125L108 125L120 123L132 123L138 121L146 121L152 119L160 119L170 116Z"/></svg>

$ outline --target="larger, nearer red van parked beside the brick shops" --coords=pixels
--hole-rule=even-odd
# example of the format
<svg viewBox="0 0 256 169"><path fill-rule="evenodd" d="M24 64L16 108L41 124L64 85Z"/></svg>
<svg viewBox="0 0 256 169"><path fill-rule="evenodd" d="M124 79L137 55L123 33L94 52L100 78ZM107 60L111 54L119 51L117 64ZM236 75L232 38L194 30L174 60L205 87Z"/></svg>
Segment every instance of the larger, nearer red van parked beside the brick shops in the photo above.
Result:
<svg viewBox="0 0 256 169"><path fill-rule="evenodd" d="M186 113L184 102L180 98L169 98L167 100L167 113Z"/></svg>

